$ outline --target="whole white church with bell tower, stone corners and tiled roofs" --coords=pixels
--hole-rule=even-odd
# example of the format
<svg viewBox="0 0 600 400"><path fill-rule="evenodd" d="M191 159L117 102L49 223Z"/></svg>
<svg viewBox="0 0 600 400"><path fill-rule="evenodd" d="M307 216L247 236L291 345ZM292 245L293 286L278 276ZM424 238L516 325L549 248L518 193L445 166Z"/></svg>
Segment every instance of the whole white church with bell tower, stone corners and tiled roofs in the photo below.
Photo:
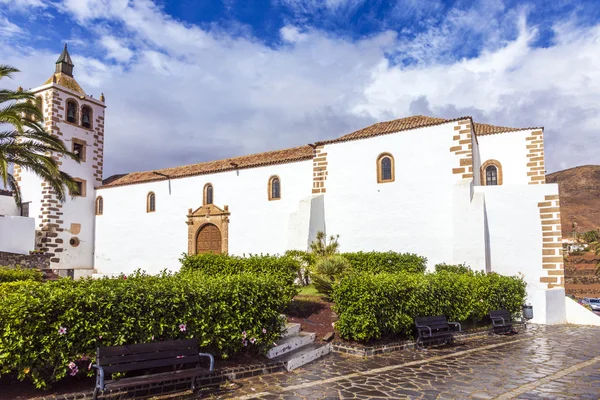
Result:
<svg viewBox="0 0 600 400"><path fill-rule="evenodd" d="M409 116L301 147L103 180L105 99L79 86L66 47L32 92L45 127L81 160L58 158L80 182L65 203L15 171L36 247L54 269L156 273L177 270L183 253L306 250L324 231L340 235L343 251L522 273L534 322L566 320L558 186L545 182L541 127Z"/></svg>

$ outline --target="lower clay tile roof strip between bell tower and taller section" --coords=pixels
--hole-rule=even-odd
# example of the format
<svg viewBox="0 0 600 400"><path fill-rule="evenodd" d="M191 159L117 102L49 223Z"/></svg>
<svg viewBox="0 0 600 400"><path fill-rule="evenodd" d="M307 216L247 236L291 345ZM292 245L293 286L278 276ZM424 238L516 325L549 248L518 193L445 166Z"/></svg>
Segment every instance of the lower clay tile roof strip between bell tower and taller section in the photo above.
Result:
<svg viewBox="0 0 600 400"><path fill-rule="evenodd" d="M184 165L182 167L165 168L154 171L132 172L122 176L111 176L103 181L100 188L132 185L161 181L170 178L183 178L186 176L204 175L215 172L233 171L236 169L261 167L265 165L284 164L288 162L310 160L313 157L313 148L300 146L285 150L275 150L266 153L250 154L247 156L226 158L224 160L207 161L198 164ZM158 173L158 174L156 174Z"/></svg>

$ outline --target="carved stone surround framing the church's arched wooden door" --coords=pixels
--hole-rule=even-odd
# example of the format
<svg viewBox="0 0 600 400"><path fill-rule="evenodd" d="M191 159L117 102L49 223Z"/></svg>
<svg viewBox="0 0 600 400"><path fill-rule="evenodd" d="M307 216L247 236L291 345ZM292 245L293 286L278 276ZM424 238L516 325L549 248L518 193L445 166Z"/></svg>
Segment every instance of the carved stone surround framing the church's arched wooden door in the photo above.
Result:
<svg viewBox="0 0 600 400"><path fill-rule="evenodd" d="M214 225L221 233L221 253L229 249L229 206L220 209L214 204L206 204L196 211L188 210L188 254L196 254L198 233L207 225Z"/></svg>

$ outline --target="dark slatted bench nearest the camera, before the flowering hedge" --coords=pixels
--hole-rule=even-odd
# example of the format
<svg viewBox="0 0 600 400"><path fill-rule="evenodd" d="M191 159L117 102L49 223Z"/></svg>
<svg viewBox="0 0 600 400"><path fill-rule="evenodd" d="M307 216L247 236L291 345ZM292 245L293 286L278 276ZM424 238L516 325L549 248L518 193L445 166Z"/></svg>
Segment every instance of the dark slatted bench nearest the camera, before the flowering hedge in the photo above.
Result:
<svg viewBox="0 0 600 400"><path fill-rule="evenodd" d="M201 357L208 357L209 368L199 368ZM194 364L193 366L191 364ZM123 389L133 386L156 384L166 381L191 380L194 390L195 377L213 371L215 366L211 354L200 353L197 339L170 340L164 342L132 344L127 346L98 347L96 350L97 370L94 400L98 392ZM172 367L171 371L134 376L116 380L110 379L115 372L151 370ZM184 369L187 367L187 369Z"/></svg>

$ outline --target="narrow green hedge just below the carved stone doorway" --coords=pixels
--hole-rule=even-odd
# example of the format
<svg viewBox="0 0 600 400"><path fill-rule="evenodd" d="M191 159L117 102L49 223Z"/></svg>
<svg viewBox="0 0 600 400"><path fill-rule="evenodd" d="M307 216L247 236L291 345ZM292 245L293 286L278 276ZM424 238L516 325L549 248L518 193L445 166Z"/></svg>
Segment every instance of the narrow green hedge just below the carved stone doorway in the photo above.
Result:
<svg viewBox="0 0 600 400"><path fill-rule="evenodd" d="M250 255L238 257L228 254L184 254L179 260L181 272L198 271L211 276L237 274L267 274L283 277L293 283L298 277L300 263L289 256Z"/></svg>

